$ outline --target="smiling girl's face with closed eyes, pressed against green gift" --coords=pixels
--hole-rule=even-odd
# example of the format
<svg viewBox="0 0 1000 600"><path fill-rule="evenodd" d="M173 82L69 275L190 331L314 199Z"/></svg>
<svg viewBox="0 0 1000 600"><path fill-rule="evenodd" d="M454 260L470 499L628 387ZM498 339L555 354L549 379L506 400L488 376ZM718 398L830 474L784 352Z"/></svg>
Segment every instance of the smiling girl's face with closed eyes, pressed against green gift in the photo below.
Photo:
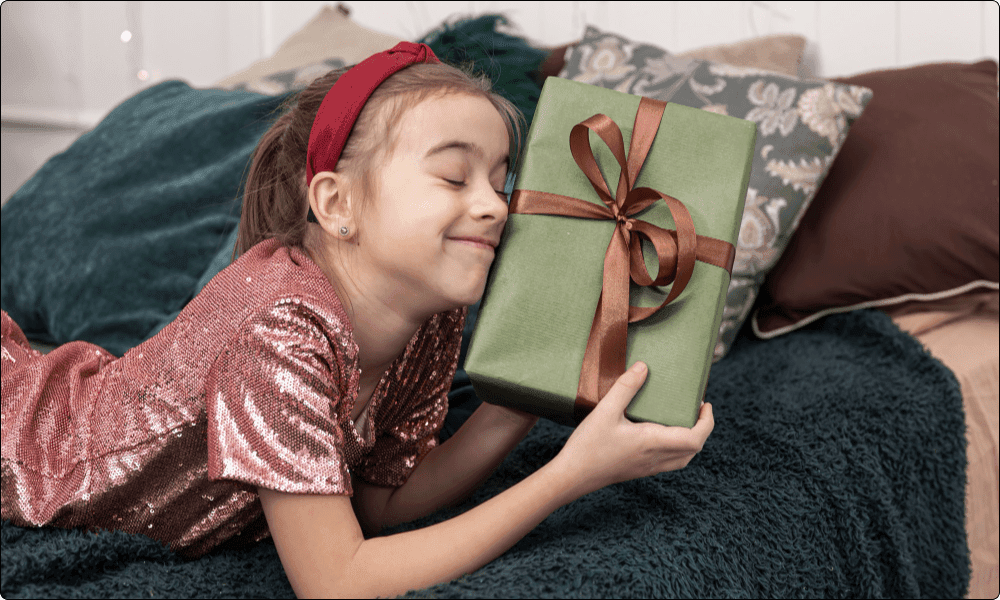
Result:
<svg viewBox="0 0 1000 600"><path fill-rule="evenodd" d="M396 131L359 249L411 310L473 304L507 221L504 121L484 98L448 94L406 111Z"/></svg>

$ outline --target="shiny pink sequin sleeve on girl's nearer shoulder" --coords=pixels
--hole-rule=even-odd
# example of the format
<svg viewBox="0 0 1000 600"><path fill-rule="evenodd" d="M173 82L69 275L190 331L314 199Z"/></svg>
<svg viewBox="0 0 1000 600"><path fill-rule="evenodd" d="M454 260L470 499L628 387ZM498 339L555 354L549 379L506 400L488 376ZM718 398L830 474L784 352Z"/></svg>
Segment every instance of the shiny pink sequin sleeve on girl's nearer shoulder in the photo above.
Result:
<svg viewBox="0 0 1000 600"><path fill-rule="evenodd" d="M337 350L346 344L329 338L348 334L324 310L298 298L279 301L248 317L219 355L206 388L210 478L289 493L353 493L338 426L349 365Z"/></svg>

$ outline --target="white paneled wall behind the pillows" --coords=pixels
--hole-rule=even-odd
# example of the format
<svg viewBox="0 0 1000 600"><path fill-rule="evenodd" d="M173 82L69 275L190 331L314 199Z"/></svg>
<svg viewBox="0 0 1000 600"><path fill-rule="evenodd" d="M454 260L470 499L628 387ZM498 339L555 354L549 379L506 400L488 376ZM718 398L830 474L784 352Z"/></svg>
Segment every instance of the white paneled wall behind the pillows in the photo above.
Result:
<svg viewBox="0 0 1000 600"><path fill-rule="evenodd" d="M4 3L2 198L123 99L171 78L212 85L273 54L323 4ZM552 46L578 39L588 24L675 52L796 33L809 42L804 74L813 76L1000 56L1000 9L980 0L343 4L356 22L410 40L446 19L488 12Z"/></svg>

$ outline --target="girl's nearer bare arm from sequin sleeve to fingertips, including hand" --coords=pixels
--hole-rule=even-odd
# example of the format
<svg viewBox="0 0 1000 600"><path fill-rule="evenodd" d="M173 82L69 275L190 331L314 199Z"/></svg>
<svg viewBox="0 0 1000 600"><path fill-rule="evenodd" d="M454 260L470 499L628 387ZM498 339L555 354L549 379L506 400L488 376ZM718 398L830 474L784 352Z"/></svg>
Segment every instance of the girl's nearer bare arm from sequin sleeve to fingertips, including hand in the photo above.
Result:
<svg viewBox="0 0 1000 600"><path fill-rule="evenodd" d="M448 581L498 557L556 508L591 491L679 469L714 422L702 407L692 429L632 423L625 407L645 379L629 370L547 465L489 501L424 529L364 539L343 496L260 489L285 573L300 597L372 597Z"/></svg>

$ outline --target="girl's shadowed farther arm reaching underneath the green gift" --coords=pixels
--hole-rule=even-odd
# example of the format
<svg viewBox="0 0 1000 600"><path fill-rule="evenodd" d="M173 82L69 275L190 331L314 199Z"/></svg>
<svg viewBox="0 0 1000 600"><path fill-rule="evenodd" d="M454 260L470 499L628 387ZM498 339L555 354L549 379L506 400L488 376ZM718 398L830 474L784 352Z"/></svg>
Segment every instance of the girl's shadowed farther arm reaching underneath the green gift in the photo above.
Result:
<svg viewBox="0 0 1000 600"><path fill-rule="evenodd" d="M366 534L454 506L476 490L538 421L519 410L482 404L431 450L398 488L355 480L354 511Z"/></svg>

